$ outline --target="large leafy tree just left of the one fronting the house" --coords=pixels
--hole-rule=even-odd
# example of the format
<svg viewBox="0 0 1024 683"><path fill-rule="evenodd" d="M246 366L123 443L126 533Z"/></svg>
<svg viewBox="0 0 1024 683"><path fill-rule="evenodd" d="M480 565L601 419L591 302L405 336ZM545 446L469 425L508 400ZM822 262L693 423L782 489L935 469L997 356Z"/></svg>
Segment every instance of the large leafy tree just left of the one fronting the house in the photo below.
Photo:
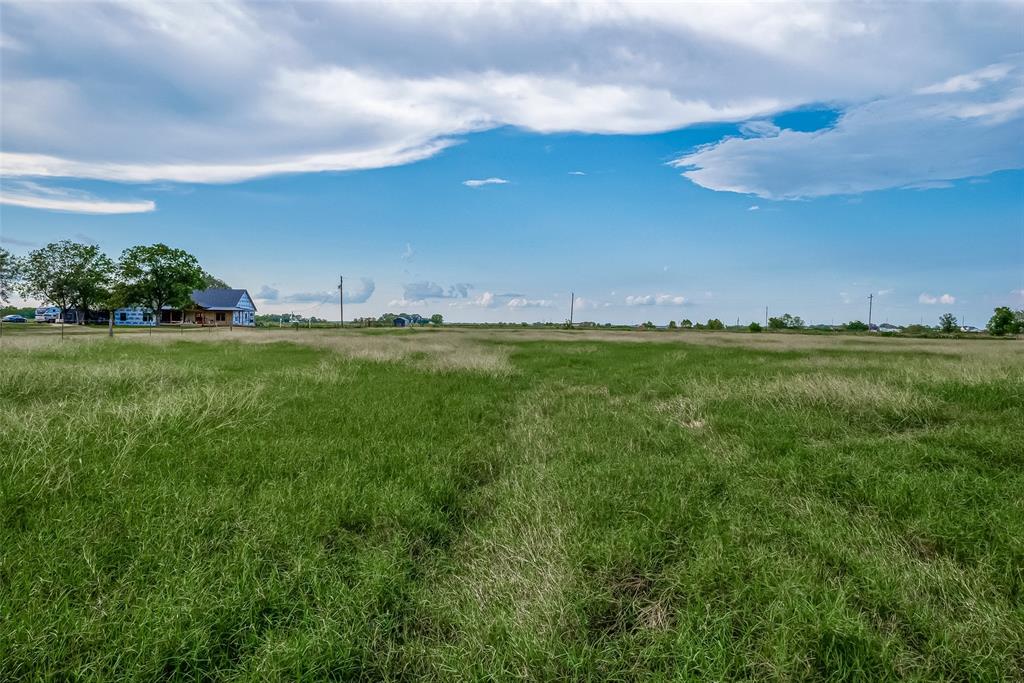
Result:
<svg viewBox="0 0 1024 683"><path fill-rule="evenodd" d="M22 294L60 306L61 313L79 308L84 322L108 298L114 262L95 245L61 240L30 252L22 270Z"/></svg>

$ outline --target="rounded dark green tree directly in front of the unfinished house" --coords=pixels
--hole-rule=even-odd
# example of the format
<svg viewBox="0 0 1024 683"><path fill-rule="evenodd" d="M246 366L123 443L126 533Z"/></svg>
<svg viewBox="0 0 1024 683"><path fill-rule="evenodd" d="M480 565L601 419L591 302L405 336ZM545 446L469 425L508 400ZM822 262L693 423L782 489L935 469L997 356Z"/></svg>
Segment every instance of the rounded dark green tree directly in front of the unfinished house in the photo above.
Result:
<svg viewBox="0 0 1024 683"><path fill-rule="evenodd" d="M130 247L118 262L121 299L155 315L164 306L188 305L193 290L205 287L204 274L195 256L164 244Z"/></svg>

